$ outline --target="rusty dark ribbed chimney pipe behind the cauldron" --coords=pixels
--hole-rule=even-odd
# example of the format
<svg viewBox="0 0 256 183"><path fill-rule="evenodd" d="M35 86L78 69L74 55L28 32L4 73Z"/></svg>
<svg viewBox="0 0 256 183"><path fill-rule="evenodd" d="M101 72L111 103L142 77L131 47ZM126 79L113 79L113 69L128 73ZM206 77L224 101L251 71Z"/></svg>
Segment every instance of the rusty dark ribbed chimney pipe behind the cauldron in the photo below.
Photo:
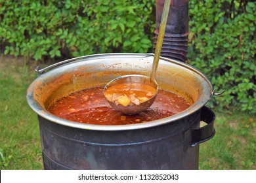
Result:
<svg viewBox="0 0 256 183"><path fill-rule="evenodd" d="M163 37L163 46L161 56L165 58L186 61L188 52L188 1L173 0L169 10L165 36ZM158 39L158 33L161 22L161 14L165 0L156 0L156 36L154 44Z"/></svg>

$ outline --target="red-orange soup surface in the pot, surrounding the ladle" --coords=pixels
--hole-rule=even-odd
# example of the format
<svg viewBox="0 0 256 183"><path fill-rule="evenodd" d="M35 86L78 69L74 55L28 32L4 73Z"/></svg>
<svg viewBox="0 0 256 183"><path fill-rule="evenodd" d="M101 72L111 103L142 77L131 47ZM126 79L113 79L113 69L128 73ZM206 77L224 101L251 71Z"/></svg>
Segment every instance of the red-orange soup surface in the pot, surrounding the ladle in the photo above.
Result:
<svg viewBox="0 0 256 183"><path fill-rule="evenodd" d="M159 90L153 105L128 116L114 110L104 97L104 87L89 88L59 99L50 108L52 114L73 122L98 125L139 124L166 118L190 107L183 97Z"/></svg>

